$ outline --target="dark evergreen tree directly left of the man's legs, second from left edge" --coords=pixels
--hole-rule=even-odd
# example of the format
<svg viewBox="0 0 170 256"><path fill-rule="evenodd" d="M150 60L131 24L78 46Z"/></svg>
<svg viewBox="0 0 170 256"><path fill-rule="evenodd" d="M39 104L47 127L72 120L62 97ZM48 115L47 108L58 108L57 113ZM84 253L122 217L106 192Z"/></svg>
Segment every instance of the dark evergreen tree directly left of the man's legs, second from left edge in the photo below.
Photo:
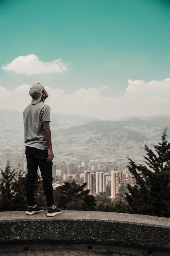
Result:
<svg viewBox="0 0 170 256"><path fill-rule="evenodd" d="M20 164L18 165L18 174L16 174L16 179L12 184L12 190L14 192L13 196L13 210L14 211L22 211L26 210L27 198L25 192L25 180L26 174L20 169Z"/></svg>

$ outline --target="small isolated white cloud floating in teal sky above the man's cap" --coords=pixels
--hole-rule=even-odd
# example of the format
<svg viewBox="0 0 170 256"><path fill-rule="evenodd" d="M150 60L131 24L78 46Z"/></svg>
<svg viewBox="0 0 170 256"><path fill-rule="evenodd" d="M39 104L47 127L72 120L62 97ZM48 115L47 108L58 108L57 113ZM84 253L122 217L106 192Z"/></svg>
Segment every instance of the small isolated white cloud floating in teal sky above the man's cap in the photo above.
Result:
<svg viewBox="0 0 170 256"><path fill-rule="evenodd" d="M67 65L62 63L62 59L52 62L43 62L35 54L19 56L18 58L3 65L2 69L15 71L17 73L33 75L40 73L63 72L67 70Z"/></svg>

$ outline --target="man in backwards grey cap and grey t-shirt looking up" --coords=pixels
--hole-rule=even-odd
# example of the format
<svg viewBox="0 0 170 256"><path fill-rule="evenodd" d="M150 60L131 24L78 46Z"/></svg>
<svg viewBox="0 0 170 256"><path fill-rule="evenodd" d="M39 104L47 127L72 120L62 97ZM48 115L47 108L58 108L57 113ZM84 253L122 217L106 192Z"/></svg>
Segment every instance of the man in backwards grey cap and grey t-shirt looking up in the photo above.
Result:
<svg viewBox="0 0 170 256"><path fill-rule="evenodd" d="M39 83L30 88L29 94L32 97L32 101L23 112L25 155L28 169L25 181L28 202L26 214L32 215L44 210L43 207L36 204L34 197L34 182L39 166L49 207L47 216L55 216L62 213L62 209L54 205L53 198L52 160L54 154L51 143L50 107L44 103L48 94Z"/></svg>

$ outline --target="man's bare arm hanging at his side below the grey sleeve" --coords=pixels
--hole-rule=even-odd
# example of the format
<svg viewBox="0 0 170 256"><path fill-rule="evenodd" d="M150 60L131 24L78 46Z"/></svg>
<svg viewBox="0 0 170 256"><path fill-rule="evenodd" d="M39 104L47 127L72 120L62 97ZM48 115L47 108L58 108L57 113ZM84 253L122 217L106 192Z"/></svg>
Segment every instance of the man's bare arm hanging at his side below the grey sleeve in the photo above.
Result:
<svg viewBox="0 0 170 256"><path fill-rule="evenodd" d="M53 154L53 151L52 151L52 143L51 143L50 122L49 121L42 122L42 125L43 125L44 137L46 139L47 146L48 146L49 157L47 158L47 161L50 162L54 158L54 154Z"/></svg>

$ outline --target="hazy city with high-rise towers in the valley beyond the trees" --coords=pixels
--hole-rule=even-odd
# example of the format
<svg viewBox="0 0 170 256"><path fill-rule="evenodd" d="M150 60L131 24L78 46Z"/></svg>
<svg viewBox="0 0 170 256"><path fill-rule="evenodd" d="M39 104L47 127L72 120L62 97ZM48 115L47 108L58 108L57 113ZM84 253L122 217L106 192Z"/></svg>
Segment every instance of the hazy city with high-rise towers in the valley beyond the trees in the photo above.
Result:
<svg viewBox="0 0 170 256"><path fill-rule="evenodd" d="M140 163L140 162L139 162ZM121 183L130 183L132 186L135 184L135 179L129 172L129 164L124 159L117 158L115 161L103 160L77 160L72 161L53 161L52 175L53 175L53 188L62 186L66 181L75 181L78 184L87 183L86 189L94 196L100 192L106 192L110 188L110 197L113 199L119 193ZM5 169L5 164L1 166L2 170ZM27 173L26 161L16 166L16 170L22 169ZM38 168L38 174L41 172Z"/></svg>

